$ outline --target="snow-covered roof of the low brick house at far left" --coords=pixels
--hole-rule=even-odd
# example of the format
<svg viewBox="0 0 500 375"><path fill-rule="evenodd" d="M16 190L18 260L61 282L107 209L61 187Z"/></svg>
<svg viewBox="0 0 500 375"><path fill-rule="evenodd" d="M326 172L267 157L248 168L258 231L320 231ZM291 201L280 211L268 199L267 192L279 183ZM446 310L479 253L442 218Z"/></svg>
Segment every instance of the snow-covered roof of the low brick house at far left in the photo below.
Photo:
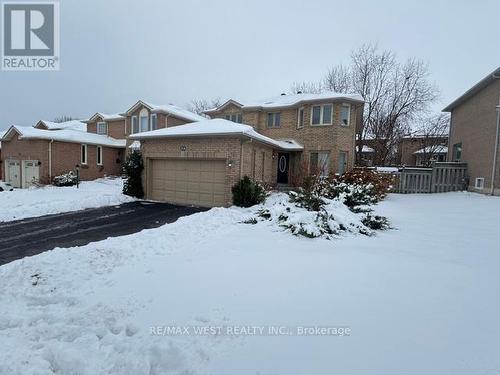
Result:
<svg viewBox="0 0 500 375"><path fill-rule="evenodd" d="M20 139L45 139L58 142L83 143L98 146L107 146L115 148L124 148L126 141L124 139L115 139L106 135L95 133L87 133L74 129L62 130L43 130L31 126L11 126L0 140L8 141L14 136L14 133L19 134Z"/></svg>

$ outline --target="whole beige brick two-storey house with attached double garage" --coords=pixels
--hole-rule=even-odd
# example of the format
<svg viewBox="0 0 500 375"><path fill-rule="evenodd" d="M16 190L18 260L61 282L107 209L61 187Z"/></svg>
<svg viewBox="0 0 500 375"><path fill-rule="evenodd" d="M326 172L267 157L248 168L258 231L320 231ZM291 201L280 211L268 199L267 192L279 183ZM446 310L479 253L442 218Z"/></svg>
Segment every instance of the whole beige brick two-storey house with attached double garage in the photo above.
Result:
<svg viewBox="0 0 500 375"><path fill-rule="evenodd" d="M137 109L132 113L136 113ZM231 205L243 176L288 185L309 171L354 165L358 95L297 94L241 104L229 100L192 124L132 134L145 161L146 198L200 206Z"/></svg>

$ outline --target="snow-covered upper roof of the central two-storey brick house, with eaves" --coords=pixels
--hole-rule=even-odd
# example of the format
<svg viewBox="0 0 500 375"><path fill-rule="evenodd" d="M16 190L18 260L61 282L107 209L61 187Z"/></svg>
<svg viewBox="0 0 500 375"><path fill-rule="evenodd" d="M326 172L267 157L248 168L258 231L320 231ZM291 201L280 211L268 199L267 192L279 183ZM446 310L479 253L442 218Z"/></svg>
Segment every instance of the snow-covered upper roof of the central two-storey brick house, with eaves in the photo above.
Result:
<svg viewBox="0 0 500 375"><path fill-rule="evenodd" d="M351 102L364 103L363 97L359 94L340 94L336 92L324 92L321 94L290 94L290 95L279 95L272 98L267 98L259 101L239 103L234 100L228 100L218 108L210 109L205 111L205 113L219 112L225 106L229 104L234 104L241 107L242 109L275 109L275 108L286 108L295 107L302 104L324 102L328 100L347 100Z"/></svg>

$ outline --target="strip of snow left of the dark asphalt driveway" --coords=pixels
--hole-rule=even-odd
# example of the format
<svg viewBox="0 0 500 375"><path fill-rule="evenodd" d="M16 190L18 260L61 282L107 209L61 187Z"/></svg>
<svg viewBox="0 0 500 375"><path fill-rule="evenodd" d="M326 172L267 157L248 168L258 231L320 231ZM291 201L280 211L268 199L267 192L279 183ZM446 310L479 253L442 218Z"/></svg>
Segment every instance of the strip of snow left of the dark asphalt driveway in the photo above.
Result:
<svg viewBox="0 0 500 375"><path fill-rule="evenodd" d="M79 189L76 186L45 186L1 192L0 222L133 201L122 194L122 188L121 178L101 178L83 181Z"/></svg>

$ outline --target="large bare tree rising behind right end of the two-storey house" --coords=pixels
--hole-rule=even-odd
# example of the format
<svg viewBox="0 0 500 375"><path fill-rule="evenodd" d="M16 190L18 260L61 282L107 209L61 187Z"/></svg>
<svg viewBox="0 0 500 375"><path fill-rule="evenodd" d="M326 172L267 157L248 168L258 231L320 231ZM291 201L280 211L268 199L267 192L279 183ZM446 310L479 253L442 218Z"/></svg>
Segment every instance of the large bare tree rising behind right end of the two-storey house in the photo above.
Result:
<svg viewBox="0 0 500 375"><path fill-rule="evenodd" d="M375 163L386 164L395 155L411 122L427 113L438 97L428 75L427 65L420 60L400 63L391 51L365 44L352 53L349 66L334 66L323 82L327 90L363 97L365 109L358 150L363 149L367 138L375 139ZM360 151L357 157L360 160Z"/></svg>

